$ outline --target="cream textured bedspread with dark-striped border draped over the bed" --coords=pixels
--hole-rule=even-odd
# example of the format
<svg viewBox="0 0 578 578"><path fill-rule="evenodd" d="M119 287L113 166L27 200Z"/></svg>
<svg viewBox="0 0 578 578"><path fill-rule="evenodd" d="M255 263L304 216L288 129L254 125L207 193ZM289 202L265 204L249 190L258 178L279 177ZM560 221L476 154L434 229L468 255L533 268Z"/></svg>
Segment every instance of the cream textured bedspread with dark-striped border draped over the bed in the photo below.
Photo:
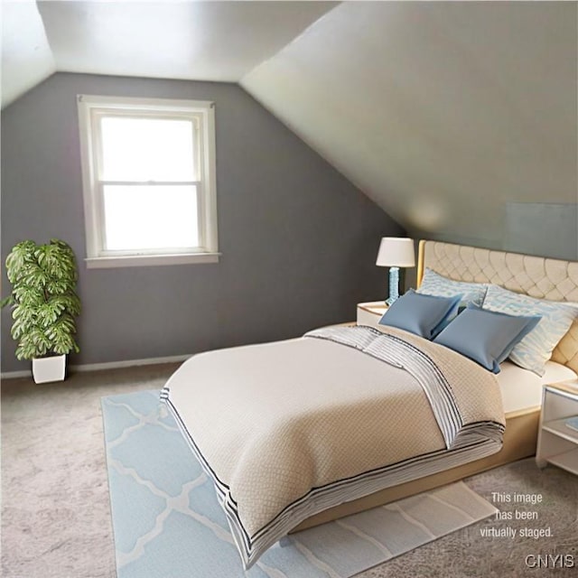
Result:
<svg viewBox="0 0 578 578"><path fill-rule="evenodd" d="M505 423L493 374L394 329L196 355L163 398L215 482L246 566L322 509L499 451Z"/></svg>

